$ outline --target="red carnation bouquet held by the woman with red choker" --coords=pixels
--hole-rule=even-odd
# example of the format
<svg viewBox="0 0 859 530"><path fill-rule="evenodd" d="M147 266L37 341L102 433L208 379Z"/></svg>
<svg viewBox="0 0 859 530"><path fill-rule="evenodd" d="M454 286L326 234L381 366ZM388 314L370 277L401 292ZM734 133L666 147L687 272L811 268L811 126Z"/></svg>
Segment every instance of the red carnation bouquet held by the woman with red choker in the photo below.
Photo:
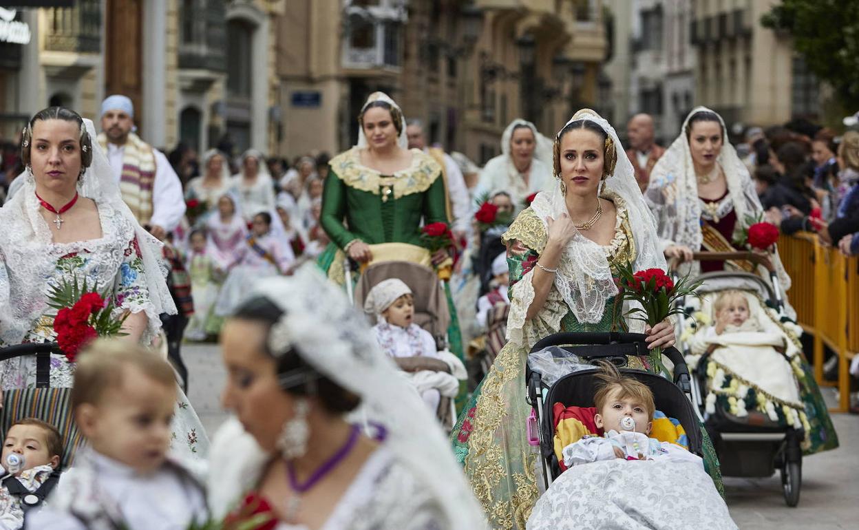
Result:
<svg viewBox="0 0 859 530"><path fill-rule="evenodd" d="M52 286L48 293L48 306L57 309L53 325L57 344L69 362L75 362L77 352L96 337L125 335L121 332L125 315L114 317L113 300L97 287L88 289L86 279L78 283L75 277Z"/></svg>

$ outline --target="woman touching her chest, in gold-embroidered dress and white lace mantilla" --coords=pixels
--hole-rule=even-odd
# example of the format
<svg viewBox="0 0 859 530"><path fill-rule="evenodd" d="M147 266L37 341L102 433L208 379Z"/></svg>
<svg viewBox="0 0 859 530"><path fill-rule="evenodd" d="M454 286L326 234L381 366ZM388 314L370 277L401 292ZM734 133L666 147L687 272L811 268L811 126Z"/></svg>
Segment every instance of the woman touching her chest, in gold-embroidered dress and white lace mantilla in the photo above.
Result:
<svg viewBox="0 0 859 530"><path fill-rule="evenodd" d="M632 165L605 119L584 109L557 133L556 184L541 192L503 236L510 270L509 342L452 434L478 501L493 528L524 529L537 501L538 453L527 442L525 362L556 332L647 332L649 347L674 343L662 322L624 322L612 264L665 268L653 217ZM643 359L630 365L647 368Z"/></svg>

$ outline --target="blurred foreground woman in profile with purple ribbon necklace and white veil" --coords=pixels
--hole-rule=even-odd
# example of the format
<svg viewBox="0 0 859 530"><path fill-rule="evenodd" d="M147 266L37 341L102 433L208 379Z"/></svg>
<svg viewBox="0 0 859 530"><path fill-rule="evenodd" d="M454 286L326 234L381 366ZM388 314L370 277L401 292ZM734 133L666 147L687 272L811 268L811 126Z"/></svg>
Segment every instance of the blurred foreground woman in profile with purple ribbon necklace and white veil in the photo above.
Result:
<svg viewBox="0 0 859 530"><path fill-rule="evenodd" d="M261 281L221 338L236 418L211 453L217 518L256 508L283 529L482 527L431 411L315 265Z"/></svg>

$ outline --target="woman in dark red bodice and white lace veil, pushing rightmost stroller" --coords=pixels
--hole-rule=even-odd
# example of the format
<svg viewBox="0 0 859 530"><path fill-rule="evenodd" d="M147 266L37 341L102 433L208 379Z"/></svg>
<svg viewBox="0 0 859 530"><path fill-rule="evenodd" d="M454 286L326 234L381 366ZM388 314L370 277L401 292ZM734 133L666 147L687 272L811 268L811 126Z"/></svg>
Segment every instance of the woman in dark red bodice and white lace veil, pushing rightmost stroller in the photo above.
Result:
<svg viewBox="0 0 859 530"><path fill-rule="evenodd" d="M733 252L734 228L746 216L763 212L746 165L728 142L722 117L706 107L686 117L680 135L656 162L644 192L659 226L667 259L689 261L693 252ZM783 291L790 288L778 253L773 253ZM682 273L719 271L721 261L691 261ZM732 270L752 271L747 262L728 262ZM762 271L767 277L765 271ZM787 298L783 295L783 300ZM788 306L790 316L793 310Z"/></svg>

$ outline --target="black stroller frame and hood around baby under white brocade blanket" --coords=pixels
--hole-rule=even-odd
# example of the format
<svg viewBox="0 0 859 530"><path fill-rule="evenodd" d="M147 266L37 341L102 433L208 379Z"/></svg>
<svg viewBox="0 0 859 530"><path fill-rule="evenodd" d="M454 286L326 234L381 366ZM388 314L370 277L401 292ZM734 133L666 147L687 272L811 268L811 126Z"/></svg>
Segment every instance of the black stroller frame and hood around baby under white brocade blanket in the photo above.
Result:
<svg viewBox="0 0 859 530"><path fill-rule="evenodd" d="M552 349L552 356L562 361L569 356L594 362L605 360L618 367L623 375L628 375L642 381L654 394L656 409L667 417L673 417L685 429L688 437L688 448L698 456L703 456L703 440L698 428L698 418L693 410L687 393L691 391L689 370L679 351L667 348L662 351L664 356L674 364L674 382L664 377L649 374L643 370L627 369L626 356L648 355L645 336L640 333L556 333L543 338L534 344L528 355L525 381L527 384L527 399L533 409L539 439L540 461L543 484L546 489L561 474L562 470L553 448L555 436L555 421L552 406L555 403L564 405L593 406L594 405L594 374L599 369L586 368L560 376L557 381L547 384L549 379L545 369L536 368L536 359L541 350L550 346L563 346ZM533 368L534 366L534 368ZM538 442L533 439L532 443Z"/></svg>

